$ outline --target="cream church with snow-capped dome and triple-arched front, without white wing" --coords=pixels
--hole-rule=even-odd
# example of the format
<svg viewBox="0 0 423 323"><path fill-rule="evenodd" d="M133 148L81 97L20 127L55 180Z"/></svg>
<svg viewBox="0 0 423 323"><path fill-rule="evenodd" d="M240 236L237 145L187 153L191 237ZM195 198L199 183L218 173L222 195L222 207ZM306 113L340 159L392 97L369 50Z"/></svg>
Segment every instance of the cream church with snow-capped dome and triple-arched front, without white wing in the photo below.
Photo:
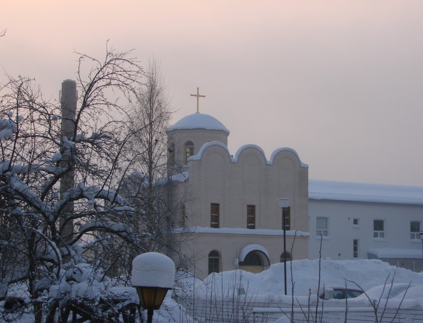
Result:
<svg viewBox="0 0 423 323"><path fill-rule="evenodd" d="M267 159L260 147L246 145L233 156L229 130L199 112L166 133L168 166L178 178L169 191L178 205L173 234L183 237L179 251L191 259L189 271L203 279L234 269L260 272L283 261L279 198L290 199L285 257L308 258L308 165L294 150L277 149Z"/></svg>

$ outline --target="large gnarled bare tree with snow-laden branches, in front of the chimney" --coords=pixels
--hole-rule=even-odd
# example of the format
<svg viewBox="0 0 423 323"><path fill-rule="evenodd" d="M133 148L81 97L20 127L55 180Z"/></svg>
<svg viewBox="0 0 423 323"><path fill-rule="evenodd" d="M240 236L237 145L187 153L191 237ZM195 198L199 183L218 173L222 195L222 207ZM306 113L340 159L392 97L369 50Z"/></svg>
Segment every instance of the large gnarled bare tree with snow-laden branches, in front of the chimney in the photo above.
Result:
<svg viewBox="0 0 423 323"><path fill-rule="evenodd" d="M139 243L118 189L137 158L124 117L143 71L130 51L108 45L103 60L77 54L69 136L60 103L44 100L33 79L9 76L0 86L0 301L21 293L35 322L66 322L71 309L87 320L115 315L108 259ZM71 171L75 184L59 194Z"/></svg>

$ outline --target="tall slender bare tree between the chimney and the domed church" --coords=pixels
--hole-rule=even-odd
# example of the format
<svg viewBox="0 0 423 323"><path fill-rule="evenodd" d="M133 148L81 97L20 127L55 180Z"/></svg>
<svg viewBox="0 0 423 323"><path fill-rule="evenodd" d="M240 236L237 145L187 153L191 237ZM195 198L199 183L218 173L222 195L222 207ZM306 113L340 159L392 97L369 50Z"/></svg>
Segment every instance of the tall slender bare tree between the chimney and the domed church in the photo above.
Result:
<svg viewBox="0 0 423 323"><path fill-rule="evenodd" d="M166 129L173 112L160 65L154 59L148 61L145 82L139 87L138 101L132 108L131 132L136 134L132 149L137 152L137 159L126 178L125 196L136 209L136 230L145 237L137 253L159 251L170 256L180 242L173 241L176 236L171 230L179 219L178 206L186 196L176 200L172 192L174 168L168 167Z"/></svg>

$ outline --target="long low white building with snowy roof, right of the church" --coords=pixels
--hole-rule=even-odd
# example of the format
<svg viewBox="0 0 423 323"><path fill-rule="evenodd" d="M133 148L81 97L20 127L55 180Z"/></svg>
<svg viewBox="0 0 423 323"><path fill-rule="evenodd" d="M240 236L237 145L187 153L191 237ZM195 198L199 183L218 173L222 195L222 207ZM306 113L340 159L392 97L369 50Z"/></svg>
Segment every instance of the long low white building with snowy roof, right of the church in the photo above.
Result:
<svg viewBox="0 0 423 323"><path fill-rule="evenodd" d="M309 258L423 271L423 187L309 180Z"/></svg>

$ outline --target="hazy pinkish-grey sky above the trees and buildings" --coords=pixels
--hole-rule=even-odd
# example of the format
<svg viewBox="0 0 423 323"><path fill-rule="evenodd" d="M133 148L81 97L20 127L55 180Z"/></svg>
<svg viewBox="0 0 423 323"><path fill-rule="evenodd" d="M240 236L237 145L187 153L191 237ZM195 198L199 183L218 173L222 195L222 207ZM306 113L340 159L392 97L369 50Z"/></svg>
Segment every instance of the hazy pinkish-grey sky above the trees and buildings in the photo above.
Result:
<svg viewBox="0 0 423 323"><path fill-rule="evenodd" d="M73 51L101 58L110 39L161 62L175 122L200 87L233 155L290 147L312 179L423 186L421 0L13 0L4 28L3 71L53 98Z"/></svg>

